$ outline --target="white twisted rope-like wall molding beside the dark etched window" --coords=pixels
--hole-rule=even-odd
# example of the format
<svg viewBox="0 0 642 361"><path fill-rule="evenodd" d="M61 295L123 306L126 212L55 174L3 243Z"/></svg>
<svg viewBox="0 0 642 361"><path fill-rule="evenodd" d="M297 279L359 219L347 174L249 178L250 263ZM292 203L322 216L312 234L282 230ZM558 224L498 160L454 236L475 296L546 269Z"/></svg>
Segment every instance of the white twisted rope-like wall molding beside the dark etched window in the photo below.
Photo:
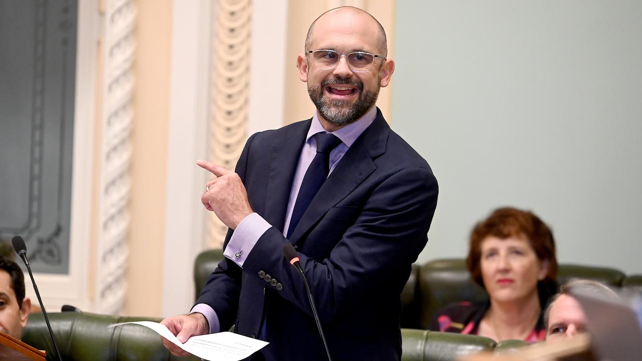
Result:
<svg viewBox="0 0 642 361"><path fill-rule="evenodd" d="M108 0L105 6L101 168L96 249L96 312L118 313L125 302L130 224L129 166L134 109L135 1Z"/></svg>

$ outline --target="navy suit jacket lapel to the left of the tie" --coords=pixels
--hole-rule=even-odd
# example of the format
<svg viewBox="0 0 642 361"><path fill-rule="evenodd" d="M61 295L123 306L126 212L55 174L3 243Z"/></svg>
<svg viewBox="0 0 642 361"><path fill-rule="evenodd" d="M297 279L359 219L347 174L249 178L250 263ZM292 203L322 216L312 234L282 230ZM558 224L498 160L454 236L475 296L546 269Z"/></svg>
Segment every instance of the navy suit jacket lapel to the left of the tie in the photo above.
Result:
<svg viewBox="0 0 642 361"><path fill-rule="evenodd" d="M284 137L276 139L270 152L270 172L263 218L281 232L288 209L292 180L310 123L311 119L308 119L291 125Z"/></svg>

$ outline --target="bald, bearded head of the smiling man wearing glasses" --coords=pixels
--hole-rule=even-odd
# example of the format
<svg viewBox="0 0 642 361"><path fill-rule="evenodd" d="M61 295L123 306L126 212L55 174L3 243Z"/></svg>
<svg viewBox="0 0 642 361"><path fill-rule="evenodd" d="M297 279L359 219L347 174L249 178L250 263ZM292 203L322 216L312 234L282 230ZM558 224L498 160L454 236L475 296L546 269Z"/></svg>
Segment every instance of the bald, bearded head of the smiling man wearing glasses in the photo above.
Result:
<svg viewBox="0 0 642 361"><path fill-rule="evenodd" d="M383 27L363 10L342 6L311 24L297 67L322 123L340 128L372 109L394 71L387 55Z"/></svg>

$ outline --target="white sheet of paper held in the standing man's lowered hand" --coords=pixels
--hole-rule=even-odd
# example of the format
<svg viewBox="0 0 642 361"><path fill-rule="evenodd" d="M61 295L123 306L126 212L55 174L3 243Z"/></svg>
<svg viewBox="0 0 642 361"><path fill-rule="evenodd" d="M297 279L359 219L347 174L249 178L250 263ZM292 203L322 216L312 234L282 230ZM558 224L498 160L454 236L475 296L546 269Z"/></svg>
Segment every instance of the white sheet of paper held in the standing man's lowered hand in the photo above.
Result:
<svg viewBox="0 0 642 361"><path fill-rule="evenodd" d="M210 333L190 337L184 344L174 336L164 325L152 321L122 322L111 324L108 327L123 324L138 324L151 328L153 331L168 339L170 342L185 351L210 361L239 361L247 358L252 353L264 348L268 342L250 339L232 332Z"/></svg>

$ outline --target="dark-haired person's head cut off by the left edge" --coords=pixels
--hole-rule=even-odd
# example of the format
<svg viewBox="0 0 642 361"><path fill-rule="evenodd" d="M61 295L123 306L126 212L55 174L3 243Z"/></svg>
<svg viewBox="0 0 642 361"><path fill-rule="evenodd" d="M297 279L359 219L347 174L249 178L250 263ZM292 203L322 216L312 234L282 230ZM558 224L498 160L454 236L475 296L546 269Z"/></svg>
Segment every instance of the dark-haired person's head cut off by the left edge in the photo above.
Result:
<svg viewBox="0 0 642 361"><path fill-rule="evenodd" d="M20 339L31 300L24 297L24 275L12 260L0 256L0 331Z"/></svg>

